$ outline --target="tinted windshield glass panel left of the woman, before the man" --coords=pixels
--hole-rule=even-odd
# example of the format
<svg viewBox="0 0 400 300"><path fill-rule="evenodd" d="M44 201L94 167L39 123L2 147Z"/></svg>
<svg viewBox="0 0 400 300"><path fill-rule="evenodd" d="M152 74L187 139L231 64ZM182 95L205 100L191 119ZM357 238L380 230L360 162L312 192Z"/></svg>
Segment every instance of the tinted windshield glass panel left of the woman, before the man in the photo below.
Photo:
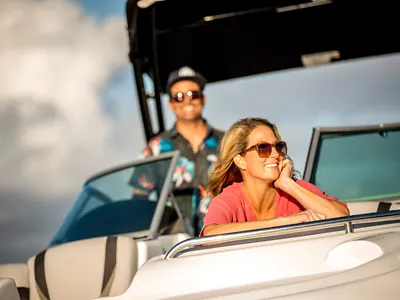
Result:
<svg viewBox="0 0 400 300"><path fill-rule="evenodd" d="M97 177L79 194L51 245L128 233L147 235L171 158L130 166ZM148 194L135 195L140 184Z"/></svg>

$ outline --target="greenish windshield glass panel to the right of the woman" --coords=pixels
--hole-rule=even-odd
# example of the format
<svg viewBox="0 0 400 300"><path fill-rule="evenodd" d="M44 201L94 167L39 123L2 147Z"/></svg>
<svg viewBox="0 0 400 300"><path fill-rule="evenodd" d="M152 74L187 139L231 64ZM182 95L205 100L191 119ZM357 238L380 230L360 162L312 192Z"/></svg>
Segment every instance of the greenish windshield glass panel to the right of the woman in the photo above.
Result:
<svg viewBox="0 0 400 300"><path fill-rule="evenodd" d="M312 182L342 201L400 197L400 131L322 134Z"/></svg>

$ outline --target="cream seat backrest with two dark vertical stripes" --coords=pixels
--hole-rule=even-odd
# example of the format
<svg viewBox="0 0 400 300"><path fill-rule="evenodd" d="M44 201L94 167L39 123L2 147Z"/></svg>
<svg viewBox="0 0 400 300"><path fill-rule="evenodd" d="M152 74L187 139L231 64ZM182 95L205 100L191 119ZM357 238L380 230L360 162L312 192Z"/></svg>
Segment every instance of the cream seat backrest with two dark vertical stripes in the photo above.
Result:
<svg viewBox="0 0 400 300"><path fill-rule="evenodd" d="M124 293L138 250L130 237L101 237L49 248L28 260L30 300L88 300Z"/></svg>

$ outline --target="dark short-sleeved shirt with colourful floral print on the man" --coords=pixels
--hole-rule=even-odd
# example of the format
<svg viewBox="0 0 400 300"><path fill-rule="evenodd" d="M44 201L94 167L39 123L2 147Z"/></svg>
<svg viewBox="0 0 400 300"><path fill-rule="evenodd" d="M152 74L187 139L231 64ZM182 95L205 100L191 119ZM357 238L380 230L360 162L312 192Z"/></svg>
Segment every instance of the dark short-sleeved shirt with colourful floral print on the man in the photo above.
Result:
<svg viewBox="0 0 400 300"><path fill-rule="evenodd" d="M207 127L207 136L196 153L175 126L151 139L142 151L142 158L145 158L180 150L181 156L173 175L174 196L183 217L187 217L193 224L195 234L201 228L200 220L202 218L198 216L201 199L210 198L204 188L208 181L208 171L217 159L217 147L224 135L223 131L210 125ZM150 193L156 187L157 182L154 172L143 171L135 174L131 178L130 184L141 192Z"/></svg>

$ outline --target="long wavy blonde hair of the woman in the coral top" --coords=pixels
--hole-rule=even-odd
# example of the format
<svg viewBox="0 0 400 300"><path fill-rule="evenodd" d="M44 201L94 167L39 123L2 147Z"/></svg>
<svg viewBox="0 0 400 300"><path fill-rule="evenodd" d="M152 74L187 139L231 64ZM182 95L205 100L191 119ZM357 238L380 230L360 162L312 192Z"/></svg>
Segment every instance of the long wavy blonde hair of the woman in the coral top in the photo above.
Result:
<svg viewBox="0 0 400 300"><path fill-rule="evenodd" d="M233 159L236 155L244 153L250 133L258 126L271 128L276 139L281 140L276 126L266 119L245 118L234 123L222 138L218 148L218 159L210 170L208 190L213 197L232 183L243 181L242 174Z"/></svg>

